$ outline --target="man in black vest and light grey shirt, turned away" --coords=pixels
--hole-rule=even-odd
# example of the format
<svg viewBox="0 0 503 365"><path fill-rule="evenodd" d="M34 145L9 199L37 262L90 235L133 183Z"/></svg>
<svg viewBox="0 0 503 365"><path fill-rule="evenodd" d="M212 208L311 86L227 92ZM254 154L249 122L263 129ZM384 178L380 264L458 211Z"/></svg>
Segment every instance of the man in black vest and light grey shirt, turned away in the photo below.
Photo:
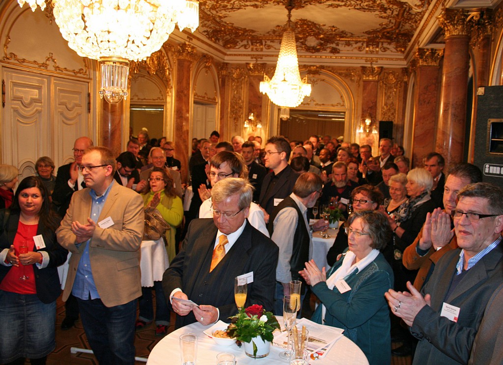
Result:
<svg viewBox="0 0 503 365"><path fill-rule="evenodd" d="M304 269L305 262L312 258L312 231L328 228L322 219L312 227L307 219L307 209L314 207L321 194L323 182L313 172L305 172L299 176L292 194L274 208L269 220L269 233L280 249L278 265L276 266L276 292L274 296L274 314L283 315L283 297L290 294L290 281L300 280L302 298L306 285L299 274Z"/></svg>

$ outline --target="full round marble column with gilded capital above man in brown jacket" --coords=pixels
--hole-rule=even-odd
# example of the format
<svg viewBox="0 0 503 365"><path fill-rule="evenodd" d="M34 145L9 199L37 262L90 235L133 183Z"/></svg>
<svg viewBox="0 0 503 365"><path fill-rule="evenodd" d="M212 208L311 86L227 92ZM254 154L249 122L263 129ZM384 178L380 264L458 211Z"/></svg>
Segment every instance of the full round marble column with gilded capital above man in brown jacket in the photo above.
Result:
<svg viewBox="0 0 503 365"><path fill-rule="evenodd" d="M469 37L463 10L446 9L438 19L445 33L445 49L435 145L449 165L463 160Z"/></svg>

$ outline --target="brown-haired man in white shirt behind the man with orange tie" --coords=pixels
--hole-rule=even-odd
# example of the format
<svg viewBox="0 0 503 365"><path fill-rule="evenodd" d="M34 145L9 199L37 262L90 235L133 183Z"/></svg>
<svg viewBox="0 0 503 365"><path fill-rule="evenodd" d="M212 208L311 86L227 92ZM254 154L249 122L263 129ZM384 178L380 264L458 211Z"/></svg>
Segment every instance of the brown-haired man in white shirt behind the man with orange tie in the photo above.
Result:
<svg viewBox="0 0 503 365"><path fill-rule="evenodd" d="M243 158L237 153L222 151L218 152L211 158L209 175L210 183L213 187L216 183L218 183L218 181L227 177L240 177L246 179L248 176L248 170L244 164ZM205 198L207 198L203 201L201 207L199 208L199 218L212 218L211 191L205 189L205 192L202 192L201 188L199 193L200 195L205 194ZM264 221L264 212L254 202L251 202L250 204L248 222L269 237L266 222Z"/></svg>

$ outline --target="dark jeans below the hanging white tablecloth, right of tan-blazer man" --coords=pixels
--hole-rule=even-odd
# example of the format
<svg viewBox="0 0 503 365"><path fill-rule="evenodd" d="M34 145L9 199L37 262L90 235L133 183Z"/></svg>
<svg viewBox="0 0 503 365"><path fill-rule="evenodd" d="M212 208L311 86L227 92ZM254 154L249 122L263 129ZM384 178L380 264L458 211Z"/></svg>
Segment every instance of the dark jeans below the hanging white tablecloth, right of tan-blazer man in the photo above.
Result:
<svg viewBox="0 0 503 365"><path fill-rule="evenodd" d="M170 310L167 308L162 282L154 282L153 289L155 290L155 324L168 326L170 324ZM154 319L151 287L141 287L141 298L138 302L140 307L139 319L147 323L151 322Z"/></svg>

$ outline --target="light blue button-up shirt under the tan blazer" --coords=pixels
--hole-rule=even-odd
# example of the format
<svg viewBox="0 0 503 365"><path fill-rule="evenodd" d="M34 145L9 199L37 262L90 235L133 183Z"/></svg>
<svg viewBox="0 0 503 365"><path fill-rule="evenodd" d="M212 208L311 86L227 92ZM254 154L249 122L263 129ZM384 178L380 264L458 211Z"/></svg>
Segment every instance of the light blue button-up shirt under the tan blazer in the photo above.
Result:
<svg viewBox="0 0 503 365"><path fill-rule="evenodd" d="M101 197L96 196L96 192L93 189L91 189L89 192L92 200L91 219L95 223L98 223L98 218L100 217L103 206L107 201L108 193L110 193L110 188L113 184L115 184L114 180L112 180L112 184L110 184L110 186ZM91 271L91 258L89 257L89 246L91 239L92 238L88 239L84 243L86 245L86 248L84 249L84 252L82 252L82 256L80 257L80 261L78 262L77 273L73 282L73 288L71 289L71 294L73 294L74 297L83 300L88 300L90 297L91 299L100 298L94 282L93 272Z"/></svg>

